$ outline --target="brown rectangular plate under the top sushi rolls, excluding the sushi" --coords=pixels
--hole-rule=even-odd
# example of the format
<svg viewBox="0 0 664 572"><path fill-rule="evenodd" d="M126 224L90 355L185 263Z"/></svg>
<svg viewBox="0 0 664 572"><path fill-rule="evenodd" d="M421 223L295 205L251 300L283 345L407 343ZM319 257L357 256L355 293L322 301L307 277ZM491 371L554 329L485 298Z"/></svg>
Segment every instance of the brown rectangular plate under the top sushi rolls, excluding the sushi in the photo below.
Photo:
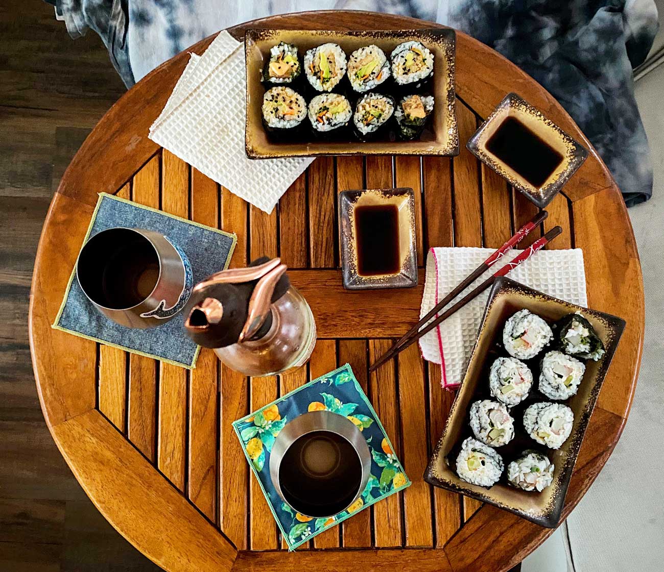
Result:
<svg viewBox="0 0 664 572"><path fill-rule="evenodd" d="M388 56L398 44L418 40L434 54L433 118L430 127L414 141L360 141L350 137L342 141L325 141L313 137L293 137L290 141L270 140L262 125L261 107L266 87L261 82L262 70L270 48L279 42L295 44L299 54L327 42L339 44L350 54L353 50L375 44ZM249 29L244 36L246 58L246 155L250 159L276 157L317 157L319 155L458 155L454 84L456 34L449 28L390 31L309 31ZM381 92L380 87L376 92ZM385 88L384 92L392 95ZM307 98L308 101L309 98ZM395 98L396 99L396 98ZM308 121L305 118L305 121ZM351 119L352 121L352 119Z"/></svg>

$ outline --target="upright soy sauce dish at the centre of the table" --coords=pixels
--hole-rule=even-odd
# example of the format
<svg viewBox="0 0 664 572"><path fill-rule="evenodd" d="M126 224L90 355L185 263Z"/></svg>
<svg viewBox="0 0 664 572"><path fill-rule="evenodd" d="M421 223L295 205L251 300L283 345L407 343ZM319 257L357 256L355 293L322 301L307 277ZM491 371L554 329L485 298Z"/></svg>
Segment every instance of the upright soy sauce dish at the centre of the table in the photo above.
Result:
<svg viewBox="0 0 664 572"><path fill-rule="evenodd" d="M417 285L412 188L339 193L343 286L349 290Z"/></svg>

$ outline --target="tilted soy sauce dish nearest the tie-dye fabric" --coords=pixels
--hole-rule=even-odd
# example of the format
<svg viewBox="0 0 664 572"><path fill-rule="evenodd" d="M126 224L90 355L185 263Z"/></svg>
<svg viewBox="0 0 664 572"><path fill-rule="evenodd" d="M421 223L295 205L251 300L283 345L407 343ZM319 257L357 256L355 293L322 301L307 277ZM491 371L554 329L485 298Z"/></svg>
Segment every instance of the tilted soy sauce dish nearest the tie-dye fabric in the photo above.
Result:
<svg viewBox="0 0 664 572"><path fill-rule="evenodd" d="M540 208L588 157L585 147L517 94L505 96L466 147Z"/></svg>

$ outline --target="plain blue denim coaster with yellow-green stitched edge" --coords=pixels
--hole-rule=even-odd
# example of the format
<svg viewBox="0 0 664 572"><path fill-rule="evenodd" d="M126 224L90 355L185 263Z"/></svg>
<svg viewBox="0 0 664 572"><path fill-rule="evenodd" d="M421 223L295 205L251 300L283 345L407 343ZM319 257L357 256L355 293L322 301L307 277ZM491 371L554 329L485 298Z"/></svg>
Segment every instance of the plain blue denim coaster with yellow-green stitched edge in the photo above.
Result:
<svg viewBox="0 0 664 572"><path fill-rule="evenodd" d="M194 283L228 267L237 240L235 234L102 192L83 243L98 232L117 226L147 228L167 236L185 251L193 269ZM187 335L184 321L180 313L162 326L146 330L116 324L90 303L78 285L74 265L53 328L193 369L201 348Z"/></svg>

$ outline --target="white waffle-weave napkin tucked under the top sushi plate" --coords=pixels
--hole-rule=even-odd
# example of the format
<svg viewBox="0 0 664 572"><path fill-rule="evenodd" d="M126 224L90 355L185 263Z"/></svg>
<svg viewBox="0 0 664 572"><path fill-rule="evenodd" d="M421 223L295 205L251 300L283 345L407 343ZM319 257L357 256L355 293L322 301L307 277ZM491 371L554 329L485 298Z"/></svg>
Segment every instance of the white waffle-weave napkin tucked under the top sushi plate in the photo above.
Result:
<svg viewBox="0 0 664 572"><path fill-rule="evenodd" d="M313 158L248 159L245 113L244 50L223 31L203 56L191 54L148 137L230 192L271 212Z"/></svg>

